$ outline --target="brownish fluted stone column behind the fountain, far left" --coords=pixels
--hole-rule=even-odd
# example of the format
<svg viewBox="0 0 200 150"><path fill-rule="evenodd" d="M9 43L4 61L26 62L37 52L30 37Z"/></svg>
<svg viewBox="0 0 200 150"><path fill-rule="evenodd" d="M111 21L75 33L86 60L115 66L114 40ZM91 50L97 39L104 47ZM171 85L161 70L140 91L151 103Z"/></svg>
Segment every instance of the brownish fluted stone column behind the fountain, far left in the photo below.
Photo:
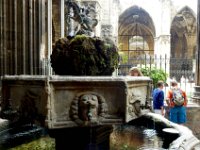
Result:
<svg viewBox="0 0 200 150"><path fill-rule="evenodd" d="M51 74L52 0L0 0L0 76Z"/></svg>

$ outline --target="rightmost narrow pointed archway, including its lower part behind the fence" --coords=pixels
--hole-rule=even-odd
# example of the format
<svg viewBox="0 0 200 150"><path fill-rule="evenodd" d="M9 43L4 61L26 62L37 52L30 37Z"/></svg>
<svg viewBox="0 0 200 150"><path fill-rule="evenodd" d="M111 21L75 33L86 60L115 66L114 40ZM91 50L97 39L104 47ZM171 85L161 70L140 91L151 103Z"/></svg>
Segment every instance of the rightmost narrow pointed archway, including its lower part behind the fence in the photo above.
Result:
<svg viewBox="0 0 200 150"><path fill-rule="evenodd" d="M181 9L171 24L170 77L194 79L193 62L196 51L196 17L189 7ZM192 75L192 76L191 76Z"/></svg>

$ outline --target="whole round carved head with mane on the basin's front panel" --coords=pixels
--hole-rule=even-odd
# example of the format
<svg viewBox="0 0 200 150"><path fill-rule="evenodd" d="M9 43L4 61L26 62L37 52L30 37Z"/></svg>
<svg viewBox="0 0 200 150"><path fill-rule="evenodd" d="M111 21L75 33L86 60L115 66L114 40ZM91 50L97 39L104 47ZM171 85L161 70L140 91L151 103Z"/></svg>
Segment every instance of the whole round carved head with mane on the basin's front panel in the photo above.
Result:
<svg viewBox="0 0 200 150"><path fill-rule="evenodd" d="M105 116L107 104L103 96L84 92L75 96L70 107L70 118L78 125L96 125Z"/></svg>

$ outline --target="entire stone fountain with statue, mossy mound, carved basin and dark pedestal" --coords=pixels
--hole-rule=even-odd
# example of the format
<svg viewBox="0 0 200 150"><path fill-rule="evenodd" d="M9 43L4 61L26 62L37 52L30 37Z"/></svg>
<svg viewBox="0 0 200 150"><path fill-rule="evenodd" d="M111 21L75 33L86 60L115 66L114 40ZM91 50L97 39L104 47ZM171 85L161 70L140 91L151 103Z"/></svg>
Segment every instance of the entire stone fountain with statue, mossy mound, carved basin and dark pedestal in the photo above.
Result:
<svg viewBox="0 0 200 150"><path fill-rule="evenodd" d="M76 33L92 35L96 20L78 14L73 1L66 4L75 13L66 15L68 25L81 19L85 22ZM74 33L71 26L68 30ZM119 60L117 47L109 39L88 35L70 34L55 43L51 66L57 75L2 77L1 117L14 125L47 128L57 150L109 150L113 125L150 113L152 80L112 76Z"/></svg>

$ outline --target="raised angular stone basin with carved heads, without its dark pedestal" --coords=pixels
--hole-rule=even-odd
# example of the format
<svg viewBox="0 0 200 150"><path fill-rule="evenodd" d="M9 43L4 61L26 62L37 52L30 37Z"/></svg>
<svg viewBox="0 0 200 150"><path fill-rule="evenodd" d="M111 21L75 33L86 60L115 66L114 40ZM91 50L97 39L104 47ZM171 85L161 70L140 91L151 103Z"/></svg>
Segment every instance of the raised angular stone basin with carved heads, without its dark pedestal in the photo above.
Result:
<svg viewBox="0 0 200 150"><path fill-rule="evenodd" d="M123 124L151 111L149 77L4 76L1 116L49 129Z"/></svg>

